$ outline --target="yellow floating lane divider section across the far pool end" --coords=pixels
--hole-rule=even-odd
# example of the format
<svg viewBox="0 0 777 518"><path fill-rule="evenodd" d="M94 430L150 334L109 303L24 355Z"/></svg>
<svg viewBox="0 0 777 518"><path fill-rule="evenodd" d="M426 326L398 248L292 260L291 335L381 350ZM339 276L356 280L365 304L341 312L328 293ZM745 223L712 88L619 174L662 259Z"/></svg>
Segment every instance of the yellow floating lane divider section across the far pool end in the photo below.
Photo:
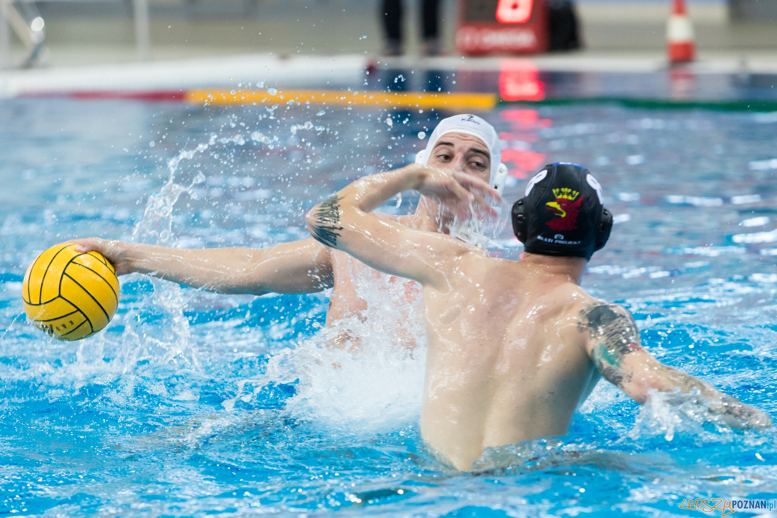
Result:
<svg viewBox="0 0 777 518"><path fill-rule="evenodd" d="M361 92L343 90L193 90L190 103L207 104L322 104L335 106L396 106L440 110L493 110L494 93Z"/></svg>

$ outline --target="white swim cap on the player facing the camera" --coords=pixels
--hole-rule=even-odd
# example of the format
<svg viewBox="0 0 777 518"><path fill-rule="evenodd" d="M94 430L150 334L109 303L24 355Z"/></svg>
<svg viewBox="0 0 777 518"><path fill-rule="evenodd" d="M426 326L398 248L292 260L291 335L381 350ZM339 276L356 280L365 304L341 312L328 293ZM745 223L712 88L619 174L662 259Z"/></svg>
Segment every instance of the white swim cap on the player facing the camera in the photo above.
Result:
<svg viewBox="0 0 777 518"><path fill-rule="evenodd" d="M472 135L472 137L478 137L483 141L483 144L486 144L491 155L491 177L489 183L501 194L504 189L504 181L507 179L507 165L502 163L502 146L499 142L497 130L494 130L490 123L487 123L479 116L462 113L461 115L441 120L437 127L434 128L434 131L432 131L427 148L419 151L418 155L416 155L416 164L427 165L432 150L437 145L437 141L443 135L449 133Z"/></svg>

